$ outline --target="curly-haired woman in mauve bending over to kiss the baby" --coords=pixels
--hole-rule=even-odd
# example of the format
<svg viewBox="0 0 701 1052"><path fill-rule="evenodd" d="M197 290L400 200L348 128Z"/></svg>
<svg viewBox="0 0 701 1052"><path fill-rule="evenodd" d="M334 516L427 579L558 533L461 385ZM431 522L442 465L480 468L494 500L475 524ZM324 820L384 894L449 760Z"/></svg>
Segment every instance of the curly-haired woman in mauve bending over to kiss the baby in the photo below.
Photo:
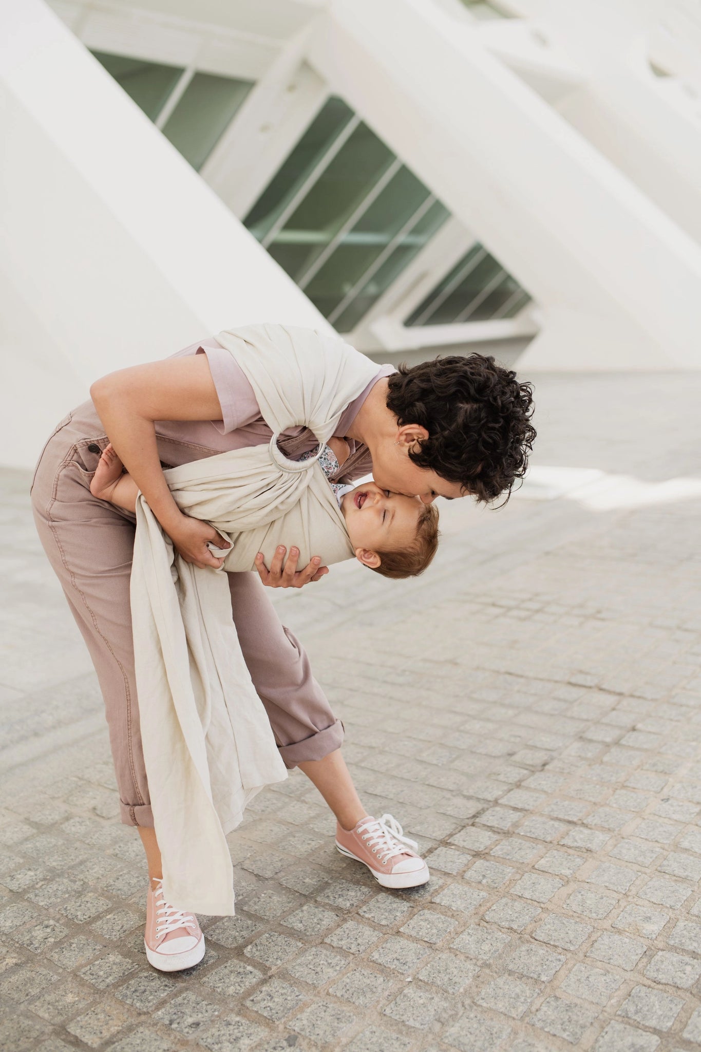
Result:
<svg viewBox="0 0 701 1052"><path fill-rule="evenodd" d="M272 339L289 340L282 326L266 331ZM222 561L207 548L208 542L219 544L219 535L178 509L162 468L267 443L271 432L245 376L213 339L163 362L105 377L90 394L92 400L68 413L49 438L35 473L33 507L100 681L122 822L139 828L146 851L149 959L170 971L190 967L193 954L200 959L203 938L194 917L172 910L160 891L161 859L133 674L129 574L135 520L92 497L89 485L111 441L183 559L219 567ZM419 495L426 503L436 495L467 493L493 500L525 468L534 434L530 412L528 385L519 385L513 372L480 356L399 372L378 368L338 421L336 436L346 438L351 448L342 477L353 481L372 466L383 488ZM314 448L316 440L304 428L293 428L282 437L281 446L295 457ZM279 550L269 568L257 560L260 580L251 573L228 574L241 647L281 755L287 767L298 766L322 792L337 818L337 836L347 853L378 876L383 870L372 847L379 841L390 871L415 872L416 883L422 883L426 864L406 851L395 835L398 827L376 822L363 807L341 755L341 722L313 679L303 648L280 624L262 587L302 587L328 572L318 559L298 569L294 548L286 555Z"/></svg>

